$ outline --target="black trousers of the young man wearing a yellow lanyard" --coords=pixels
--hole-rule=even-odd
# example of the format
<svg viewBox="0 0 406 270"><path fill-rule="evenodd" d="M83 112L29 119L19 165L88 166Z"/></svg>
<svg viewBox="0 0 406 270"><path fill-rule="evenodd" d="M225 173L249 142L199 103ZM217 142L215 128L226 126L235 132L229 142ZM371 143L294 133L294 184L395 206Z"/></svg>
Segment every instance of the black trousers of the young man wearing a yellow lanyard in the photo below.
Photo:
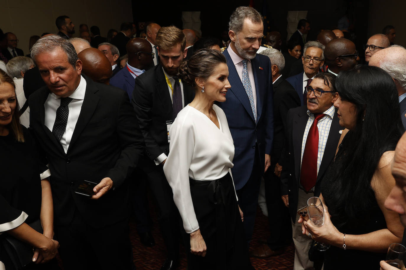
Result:
<svg viewBox="0 0 406 270"><path fill-rule="evenodd" d="M179 261L180 215L173 201L171 186L166 180L162 165L145 173L158 205L158 223L168 253L167 257Z"/></svg>

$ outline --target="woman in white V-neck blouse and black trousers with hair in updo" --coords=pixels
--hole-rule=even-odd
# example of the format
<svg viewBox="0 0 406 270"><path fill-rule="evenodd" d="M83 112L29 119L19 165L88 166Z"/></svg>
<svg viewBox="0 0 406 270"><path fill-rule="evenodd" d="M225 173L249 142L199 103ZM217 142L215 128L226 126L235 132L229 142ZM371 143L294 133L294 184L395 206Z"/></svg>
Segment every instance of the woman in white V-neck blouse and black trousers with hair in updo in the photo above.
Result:
<svg viewBox="0 0 406 270"><path fill-rule="evenodd" d="M180 66L182 81L196 94L171 126L164 172L187 233L189 270L252 269L230 172L233 138L214 104L226 100L228 75L225 57L215 50L202 49Z"/></svg>

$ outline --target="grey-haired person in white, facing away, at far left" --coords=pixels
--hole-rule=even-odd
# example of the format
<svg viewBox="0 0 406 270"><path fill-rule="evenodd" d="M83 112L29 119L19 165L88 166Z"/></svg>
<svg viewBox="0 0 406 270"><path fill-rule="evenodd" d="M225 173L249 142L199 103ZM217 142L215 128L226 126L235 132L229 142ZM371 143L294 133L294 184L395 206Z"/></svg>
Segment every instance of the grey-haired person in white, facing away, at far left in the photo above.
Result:
<svg viewBox="0 0 406 270"><path fill-rule="evenodd" d="M16 56L9 60L6 64L7 74L13 78L15 84L15 95L17 96L17 102L19 109L24 109L22 115L20 116L20 123L26 128L30 126L30 108L24 104L26 103L26 96L24 95L23 81L24 74L27 70L34 67L34 61L30 57L26 56Z"/></svg>

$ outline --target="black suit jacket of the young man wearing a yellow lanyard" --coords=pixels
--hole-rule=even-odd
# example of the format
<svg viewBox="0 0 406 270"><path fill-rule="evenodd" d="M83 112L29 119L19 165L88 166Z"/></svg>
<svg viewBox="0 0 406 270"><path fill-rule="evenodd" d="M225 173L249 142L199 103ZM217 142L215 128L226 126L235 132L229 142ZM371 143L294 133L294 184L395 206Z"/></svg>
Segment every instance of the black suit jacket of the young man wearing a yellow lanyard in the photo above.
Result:
<svg viewBox="0 0 406 270"><path fill-rule="evenodd" d="M183 92L186 106L194 98L194 89L183 83ZM151 161L162 153L168 155L166 121L172 118L172 100L161 64L137 77L131 103L144 135L145 155Z"/></svg>

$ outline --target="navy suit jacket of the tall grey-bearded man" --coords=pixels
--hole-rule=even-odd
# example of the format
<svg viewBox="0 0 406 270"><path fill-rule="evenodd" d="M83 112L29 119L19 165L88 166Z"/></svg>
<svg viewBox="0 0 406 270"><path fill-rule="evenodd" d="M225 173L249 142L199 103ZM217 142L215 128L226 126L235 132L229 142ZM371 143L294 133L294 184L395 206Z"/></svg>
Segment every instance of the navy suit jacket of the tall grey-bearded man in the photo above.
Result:
<svg viewBox="0 0 406 270"><path fill-rule="evenodd" d="M223 52L229 68L231 88L225 102L216 104L227 116L235 153L232 168L235 189L241 189L250 178L255 157L255 140L258 143L261 172L265 166L265 154L271 154L273 139L273 88L269 58L257 54L251 60L257 93L257 123L247 93L227 50Z"/></svg>

